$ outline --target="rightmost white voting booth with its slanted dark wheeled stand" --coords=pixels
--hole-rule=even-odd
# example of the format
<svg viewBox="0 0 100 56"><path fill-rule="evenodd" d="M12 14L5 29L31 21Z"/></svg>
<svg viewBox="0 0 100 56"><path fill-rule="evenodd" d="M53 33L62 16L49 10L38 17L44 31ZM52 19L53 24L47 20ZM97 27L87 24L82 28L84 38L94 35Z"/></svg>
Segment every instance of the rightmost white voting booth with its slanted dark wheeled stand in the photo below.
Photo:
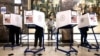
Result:
<svg viewBox="0 0 100 56"><path fill-rule="evenodd" d="M86 14L80 16L78 27L79 28L84 28L84 27L91 28L92 33L94 35L94 40L96 42L95 44L87 44L86 46L84 46L84 47L88 48L88 51L90 49L96 49L96 51L99 50L99 43L98 43L97 37L95 35L94 29L93 29L97 25L98 25L98 22L97 22L96 13L86 13Z"/></svg>

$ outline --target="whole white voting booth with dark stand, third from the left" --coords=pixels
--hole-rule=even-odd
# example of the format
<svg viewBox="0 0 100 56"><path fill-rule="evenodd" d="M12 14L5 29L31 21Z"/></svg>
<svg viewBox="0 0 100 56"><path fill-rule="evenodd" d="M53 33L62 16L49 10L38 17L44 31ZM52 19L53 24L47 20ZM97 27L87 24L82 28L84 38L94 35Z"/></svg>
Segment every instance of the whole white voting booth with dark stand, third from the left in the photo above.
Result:
<svg viewBox="0 0 100 56"><path fill-rule="evenodd" d="M70 54L70 52L76 52L78 51L72 47L72 40L73 40L73 27L78 24L78 14L76 11L71 11L71 10L66 10L66 11L61 11L56 14L56 24L57 24L57 40L56 40L56 49L62 52L65 52L67 54ZM59 34L59 29L69 29L70 30L70 36L69 37L63 37L62 38L69 38L70 40L70 50L62 50L60 49L59 42L58 42L58 34ZM65 34L66 35L66 34Z"/></svg>

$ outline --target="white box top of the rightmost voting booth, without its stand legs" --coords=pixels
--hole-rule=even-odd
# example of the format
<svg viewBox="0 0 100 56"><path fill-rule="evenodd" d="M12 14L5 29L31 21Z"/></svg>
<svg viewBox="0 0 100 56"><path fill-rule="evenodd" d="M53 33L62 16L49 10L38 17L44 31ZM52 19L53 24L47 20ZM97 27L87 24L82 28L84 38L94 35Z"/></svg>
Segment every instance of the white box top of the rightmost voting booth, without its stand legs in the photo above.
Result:
<svg viewBox="0 0 100 56"><path fill-rule="evenodd" d="M98 25L96 13L91 13L91 14L86 13L84 15L81 15L79 18L80 18L78 23L79 28Z"/></svg>

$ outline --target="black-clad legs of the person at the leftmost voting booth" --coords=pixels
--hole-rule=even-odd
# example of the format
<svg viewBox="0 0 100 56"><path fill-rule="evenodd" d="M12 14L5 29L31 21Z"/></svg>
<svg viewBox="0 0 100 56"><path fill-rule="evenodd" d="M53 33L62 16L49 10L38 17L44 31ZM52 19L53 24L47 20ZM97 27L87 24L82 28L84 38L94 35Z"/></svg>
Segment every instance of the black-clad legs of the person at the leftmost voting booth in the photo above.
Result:
<svg viewBox="0 0 100 56"><path fill-rule="evenodd" d="M19 27L10 27L9 28L9 42L11 42L12 45L19 45L19 34L20 34L20 28Z"/></svg>

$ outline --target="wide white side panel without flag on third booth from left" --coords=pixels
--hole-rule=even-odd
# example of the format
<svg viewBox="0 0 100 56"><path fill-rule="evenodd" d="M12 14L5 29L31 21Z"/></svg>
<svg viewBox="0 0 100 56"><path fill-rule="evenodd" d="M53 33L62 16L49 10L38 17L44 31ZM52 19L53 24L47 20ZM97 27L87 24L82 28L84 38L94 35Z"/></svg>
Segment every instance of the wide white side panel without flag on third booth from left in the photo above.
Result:
<svg viewBox="0 0 100 56"><path fill-rule="evenodd" d="M56 14L57 28L66 26L71 22L71 11L62 11Z"/></svg>

